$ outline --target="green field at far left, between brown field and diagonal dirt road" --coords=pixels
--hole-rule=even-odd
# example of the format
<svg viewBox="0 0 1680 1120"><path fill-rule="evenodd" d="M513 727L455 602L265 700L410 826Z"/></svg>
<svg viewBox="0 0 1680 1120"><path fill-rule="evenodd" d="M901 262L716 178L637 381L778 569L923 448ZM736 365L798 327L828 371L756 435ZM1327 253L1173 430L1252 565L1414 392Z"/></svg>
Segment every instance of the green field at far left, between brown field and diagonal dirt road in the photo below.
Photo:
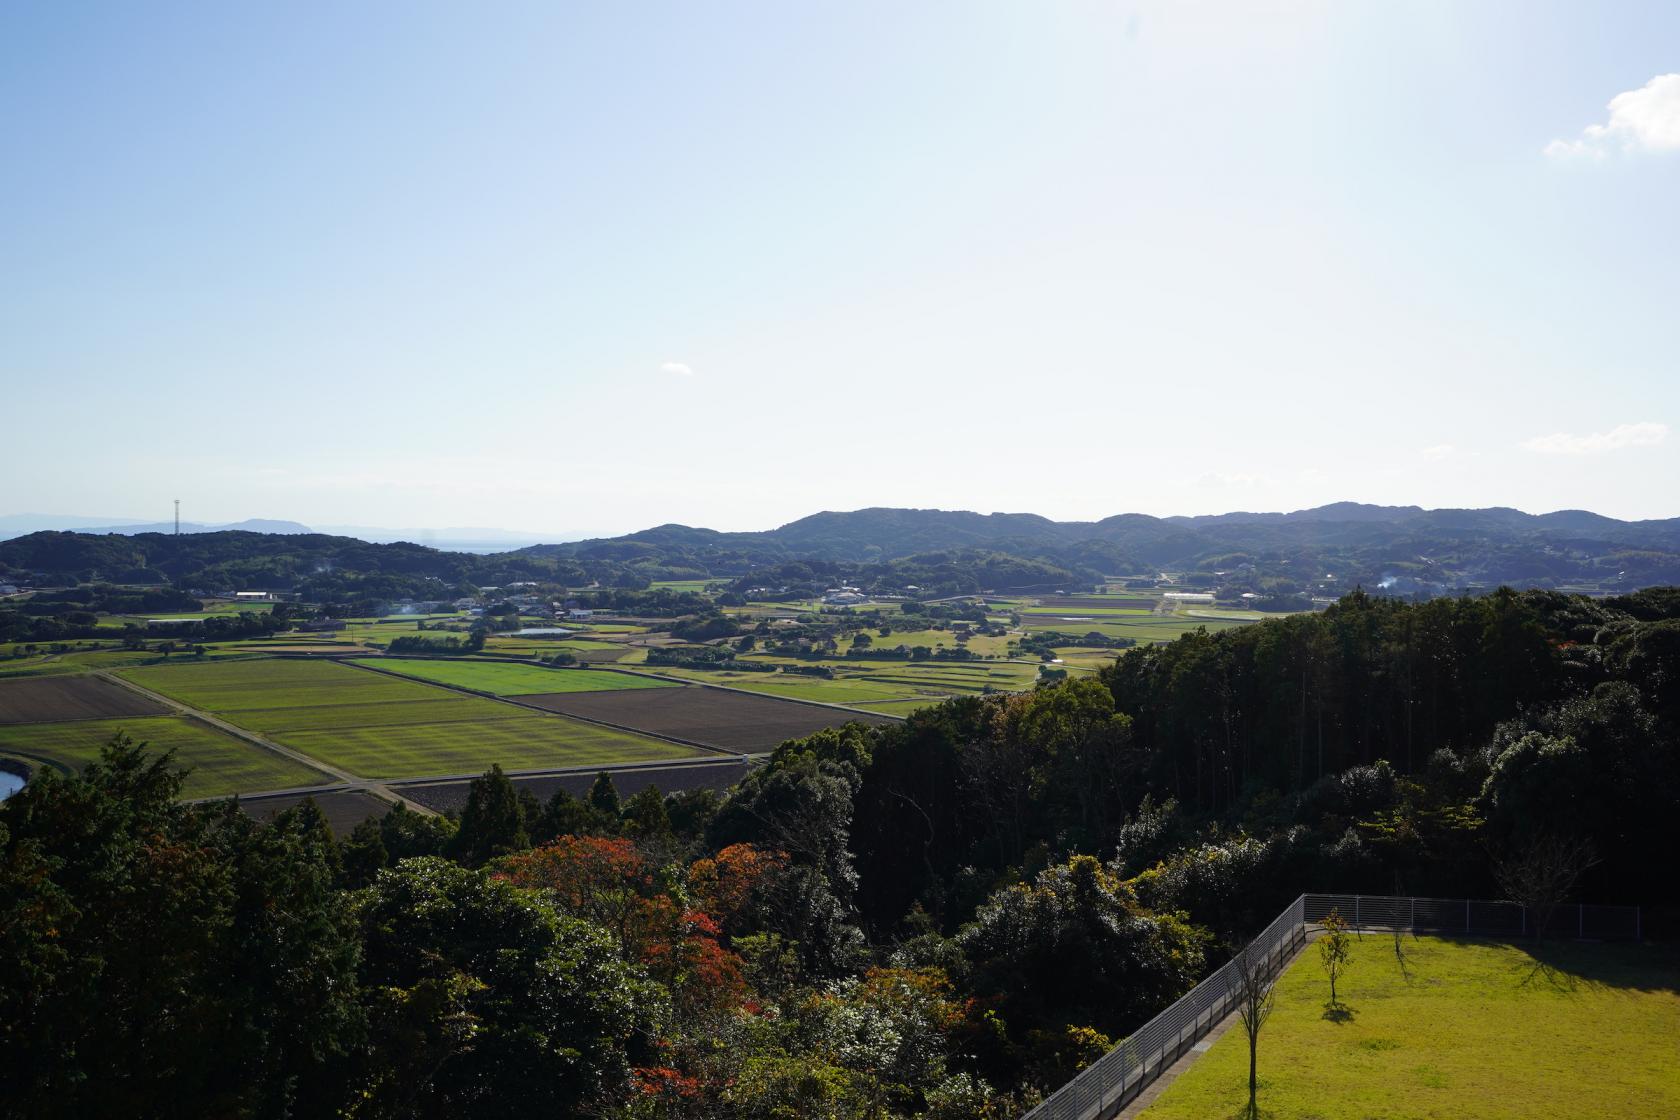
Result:
<svg viewBox="0 0 1680 1120"><path fill-rule="evenodd" d="M175 761L190 771L181 788L183 798L217 798L336 781L329 774L183 715L13 724L0 727L0 754L79 771L97 761L99 747L111 742L119 730L126 730L136 742L148 742L160 754L175 751Z"/></svg>

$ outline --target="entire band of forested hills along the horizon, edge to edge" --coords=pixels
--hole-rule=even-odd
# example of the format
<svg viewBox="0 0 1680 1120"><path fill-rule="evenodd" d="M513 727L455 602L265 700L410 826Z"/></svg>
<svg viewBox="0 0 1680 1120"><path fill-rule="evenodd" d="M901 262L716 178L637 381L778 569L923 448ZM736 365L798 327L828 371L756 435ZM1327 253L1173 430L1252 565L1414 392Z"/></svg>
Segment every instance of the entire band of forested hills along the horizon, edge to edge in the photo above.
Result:
<svg viewBox="0 0 1680 1120"><path fill-rule="evenodd" d="M1158 571L1184 574L1191 586L1240 573L1243 589L1277 598L1336 596L1356 586L1423 598L1499 584L1611 593L1680 583L1680 519L1352 502L1292 514L1119 514L1089 522L862 509L764 532L672 524L491 556L264 532L34 532L0 542L0 578L296 588L323 598L423 596L521 579L633 588L689 578L1052 591Z"/></svg>

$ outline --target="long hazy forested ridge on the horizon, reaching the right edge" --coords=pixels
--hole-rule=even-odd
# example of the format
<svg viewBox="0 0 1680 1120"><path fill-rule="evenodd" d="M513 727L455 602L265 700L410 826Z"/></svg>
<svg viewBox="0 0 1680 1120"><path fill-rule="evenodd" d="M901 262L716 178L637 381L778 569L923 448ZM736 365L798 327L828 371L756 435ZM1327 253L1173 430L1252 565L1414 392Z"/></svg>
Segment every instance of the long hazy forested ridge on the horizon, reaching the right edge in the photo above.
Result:
<svg viewBox="0 0 1680 1120"><path fill-rule="evenodd" d="M823 512L766 532L659 526L623 537L543 544L526 556L706 576L746 576L788 561L879 564L929 552L1001 552L1079 576L1226 571L1304 591L1329 574L1329 591L1399 584L1438 594L1478 586L1680 581L1680 519L1616 521L1586 510L1435 509L1339 502L1292 514L1050 521L1035 514L934 509ZM1282 589L1290 588L1265 588Z"/></svg>

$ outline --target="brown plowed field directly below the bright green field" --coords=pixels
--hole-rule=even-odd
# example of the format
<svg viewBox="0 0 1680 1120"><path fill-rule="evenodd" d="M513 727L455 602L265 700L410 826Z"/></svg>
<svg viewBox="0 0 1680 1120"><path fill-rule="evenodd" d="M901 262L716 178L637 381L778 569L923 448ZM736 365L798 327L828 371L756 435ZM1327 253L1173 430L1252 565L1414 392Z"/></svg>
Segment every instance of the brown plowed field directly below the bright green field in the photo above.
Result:
<svg viewBox="0 0 1680 1120"><path fill-rule="evenodd" d="M783 739L801 739L823 727L838 727L852 720L860 724L894 722L862 712L842 712L746 692L697 687L549 692L519 697L519 702L652 735L670 735L743 752L769 751Z"/></svg>

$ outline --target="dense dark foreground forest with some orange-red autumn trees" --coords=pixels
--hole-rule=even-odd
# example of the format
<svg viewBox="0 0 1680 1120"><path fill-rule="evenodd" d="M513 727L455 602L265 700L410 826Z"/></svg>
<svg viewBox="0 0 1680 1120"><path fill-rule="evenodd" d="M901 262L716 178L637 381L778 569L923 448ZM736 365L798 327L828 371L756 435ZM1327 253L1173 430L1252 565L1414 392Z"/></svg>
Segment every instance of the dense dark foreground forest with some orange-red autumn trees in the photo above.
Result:
<svg viewBox="0 0 1680 1120"><path fill-rule="evenodd" d="M1578 897L1675 927L1680 589L1500 589L1137 648L783 744L334 838L113 744L0 808L17 1115L1013 1117L1302 890ZM1667 925L1665 925L1667 924Z"/></svg>

